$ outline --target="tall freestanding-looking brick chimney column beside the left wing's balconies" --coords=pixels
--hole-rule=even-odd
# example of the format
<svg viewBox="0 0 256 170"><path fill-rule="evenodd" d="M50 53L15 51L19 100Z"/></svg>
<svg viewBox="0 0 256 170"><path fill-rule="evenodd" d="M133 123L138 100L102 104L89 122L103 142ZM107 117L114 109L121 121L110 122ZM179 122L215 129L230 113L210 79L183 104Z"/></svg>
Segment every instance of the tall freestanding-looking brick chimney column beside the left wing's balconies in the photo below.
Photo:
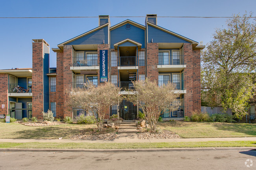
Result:
<svg viewBox="0 0 256 170"><path fill-rule="evenodd" d="M43 119L43 42L33 42L32 51L32 114L37 119Z"/></svg>

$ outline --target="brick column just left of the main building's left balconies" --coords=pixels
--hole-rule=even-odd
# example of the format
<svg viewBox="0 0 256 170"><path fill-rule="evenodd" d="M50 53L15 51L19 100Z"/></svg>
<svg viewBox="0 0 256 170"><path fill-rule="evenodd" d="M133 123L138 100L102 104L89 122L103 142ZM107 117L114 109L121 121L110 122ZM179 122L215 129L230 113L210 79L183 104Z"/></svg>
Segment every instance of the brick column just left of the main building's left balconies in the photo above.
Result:
<svg viewBox="0 0 256 170"><path fill-rule="evenodd" d="M72 117L72 107L69 107L69 96L72 85L72 45L64 45L63 49L63 116Z"/></svg>

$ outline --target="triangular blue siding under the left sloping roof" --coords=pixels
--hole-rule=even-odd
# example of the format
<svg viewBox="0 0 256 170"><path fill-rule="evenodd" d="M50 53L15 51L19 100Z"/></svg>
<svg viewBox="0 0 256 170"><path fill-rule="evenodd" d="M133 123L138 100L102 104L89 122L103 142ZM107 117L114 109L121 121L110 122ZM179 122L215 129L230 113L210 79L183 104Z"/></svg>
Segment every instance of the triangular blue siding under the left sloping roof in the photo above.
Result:
<svg viewBox="0 0 256 170"><path fill-rule="evenodd" d="M108 43L108 26L74 40L67 45L102 44L103 40L106 44Z"/></svg>

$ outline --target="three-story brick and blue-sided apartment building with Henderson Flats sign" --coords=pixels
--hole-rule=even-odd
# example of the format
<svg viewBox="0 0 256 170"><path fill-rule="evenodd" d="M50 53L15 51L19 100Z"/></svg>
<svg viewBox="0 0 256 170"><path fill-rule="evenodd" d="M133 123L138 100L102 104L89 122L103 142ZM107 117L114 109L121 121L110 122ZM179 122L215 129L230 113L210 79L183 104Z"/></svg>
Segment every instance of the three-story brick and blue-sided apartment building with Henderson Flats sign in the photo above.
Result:
<svg viewBox="0 0 256 170"><path fill-rule="evenodd" d="M42 119L42 111L50 109L56 117L75 118L84 110L69 107L67 90L83 87L86 81L98 85L107 80L121 87L122 95L128 95L124 89L133 88L131 81L145 77L159 85L171 81L180 93L177 101L182 106L165 112L163 118L184 118L201 109L200 50L204 46L158 26L156 14L147 14L145 25L125 20L110 26L108 15L99 16L98 27L52 48L57 54L56 68L49 68L45 40L33 40L32 45L32 69L0 70L0 104L5 105L0 114L9 112L19 119L32 114ZM108 58L104 66L100 64L103 55ZM124 100L109 109L108 117L119 114L134 119L138 110Z"/></svg>

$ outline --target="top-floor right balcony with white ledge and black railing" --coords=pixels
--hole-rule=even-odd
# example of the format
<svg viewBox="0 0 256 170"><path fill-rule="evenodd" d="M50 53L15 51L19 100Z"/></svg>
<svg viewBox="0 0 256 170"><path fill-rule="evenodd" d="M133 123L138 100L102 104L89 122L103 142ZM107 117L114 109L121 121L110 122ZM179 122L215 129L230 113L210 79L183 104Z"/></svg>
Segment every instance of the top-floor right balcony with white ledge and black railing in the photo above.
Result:
<svg viewBox="0 0 256 170"><path fill-rule="evenodd" d="M182 71L186 68L184 55L159 55L158 71Z"/></svg>

